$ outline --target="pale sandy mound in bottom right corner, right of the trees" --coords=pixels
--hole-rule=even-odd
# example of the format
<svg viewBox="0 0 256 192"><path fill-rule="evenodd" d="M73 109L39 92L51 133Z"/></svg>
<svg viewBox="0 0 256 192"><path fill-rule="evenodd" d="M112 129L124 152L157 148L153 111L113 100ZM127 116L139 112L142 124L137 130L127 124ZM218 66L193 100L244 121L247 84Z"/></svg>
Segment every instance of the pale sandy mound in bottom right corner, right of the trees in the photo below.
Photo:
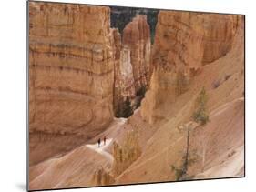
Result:
<svg viewBox="0 0 256 192"><path fill-rule="evenodd" d="M190 145L200 157L190 167L191 174L197 178L244 175L243 114L244 99L238 98L215 110L208 125L194 130Z"/></svg>

